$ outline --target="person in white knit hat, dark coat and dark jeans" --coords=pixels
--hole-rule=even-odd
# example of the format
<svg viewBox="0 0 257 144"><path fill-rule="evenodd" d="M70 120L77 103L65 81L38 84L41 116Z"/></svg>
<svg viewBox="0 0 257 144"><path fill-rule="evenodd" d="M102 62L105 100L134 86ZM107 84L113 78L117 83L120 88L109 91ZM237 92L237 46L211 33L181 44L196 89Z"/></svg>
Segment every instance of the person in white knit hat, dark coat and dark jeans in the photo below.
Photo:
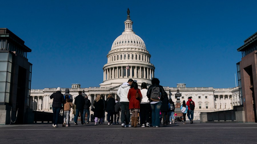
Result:
<svg viewBox="0 0 257 144"><path fill-rule="evenodd" d="M63 94L61 93L61 88L58 87L56 89L56 92L51 94L50 98L53 99L53 127L59 127L58 126L58 121L59 121L59 114L61 112L61 109L64 104L64 97Z"/></svg>

